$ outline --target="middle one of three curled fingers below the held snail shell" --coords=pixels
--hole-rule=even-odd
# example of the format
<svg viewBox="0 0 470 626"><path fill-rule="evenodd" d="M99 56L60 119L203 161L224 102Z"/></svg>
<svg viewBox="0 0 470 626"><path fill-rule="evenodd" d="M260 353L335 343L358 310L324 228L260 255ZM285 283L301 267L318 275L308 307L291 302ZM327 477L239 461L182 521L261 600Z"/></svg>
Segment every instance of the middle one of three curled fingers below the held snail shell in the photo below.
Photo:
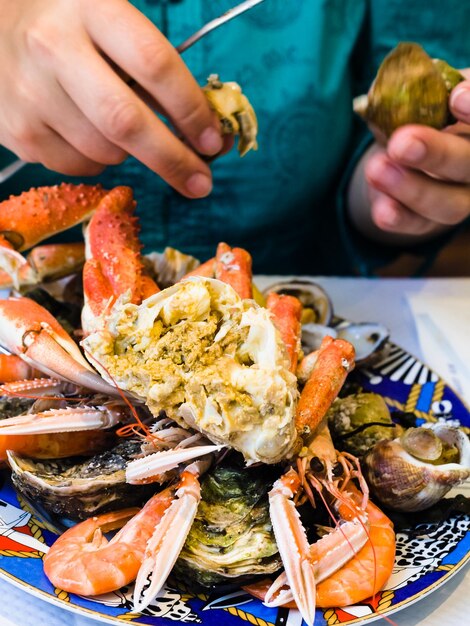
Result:
<svg viewBox="0 0 470 626"><path fill-rule="evenodd" d="M408 209L438 224L458 224L470 214L470 187L439 181L400 166L385 154L365 166L367 182Z"/></svg>

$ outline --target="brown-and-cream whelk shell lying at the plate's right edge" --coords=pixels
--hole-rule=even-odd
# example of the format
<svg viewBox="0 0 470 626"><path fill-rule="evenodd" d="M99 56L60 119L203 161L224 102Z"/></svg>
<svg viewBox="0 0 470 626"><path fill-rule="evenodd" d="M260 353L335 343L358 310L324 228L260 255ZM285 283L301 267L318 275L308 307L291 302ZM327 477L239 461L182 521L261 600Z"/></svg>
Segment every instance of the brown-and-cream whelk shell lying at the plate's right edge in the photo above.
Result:
<svg viewBox="0 0 470 626"><path fill-rule="evenodd" d="M436 504L452 487L470 477L470 443L457 428L429 424L459 450L459 463L433 465L408 454L399 439L379 441L363 458L364 476L374 496L398 511L421 511Z"/></svg>

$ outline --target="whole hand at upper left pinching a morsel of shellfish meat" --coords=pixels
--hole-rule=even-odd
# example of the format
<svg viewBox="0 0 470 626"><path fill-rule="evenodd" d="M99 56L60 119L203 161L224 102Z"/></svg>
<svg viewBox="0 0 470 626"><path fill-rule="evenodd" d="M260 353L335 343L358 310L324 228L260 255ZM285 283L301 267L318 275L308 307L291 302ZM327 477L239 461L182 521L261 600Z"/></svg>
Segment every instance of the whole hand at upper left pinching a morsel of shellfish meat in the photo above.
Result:
<svg viewBox="0 0 470 626"><path fill-rule="evenodd" d="M127 0L0 0L0 59L0 144L21 159L84 176L132 155L189 198L210 193L197 153L220 152L219 122L175 48Z"/></svg>

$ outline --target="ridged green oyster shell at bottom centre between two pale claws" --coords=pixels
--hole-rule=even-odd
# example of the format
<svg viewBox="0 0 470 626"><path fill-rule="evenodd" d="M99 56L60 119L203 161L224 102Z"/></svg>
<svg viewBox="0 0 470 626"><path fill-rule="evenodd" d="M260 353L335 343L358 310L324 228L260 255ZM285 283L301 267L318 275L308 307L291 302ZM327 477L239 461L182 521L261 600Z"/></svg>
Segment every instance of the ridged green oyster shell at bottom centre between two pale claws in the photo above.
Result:
<svg viewBox="0 0 470 626"><path fill-rule="evenodd" d="M203 587L242 583L281 566L269 518L266 471L216 467L202 481L196 519L173 573Z"/></svg>

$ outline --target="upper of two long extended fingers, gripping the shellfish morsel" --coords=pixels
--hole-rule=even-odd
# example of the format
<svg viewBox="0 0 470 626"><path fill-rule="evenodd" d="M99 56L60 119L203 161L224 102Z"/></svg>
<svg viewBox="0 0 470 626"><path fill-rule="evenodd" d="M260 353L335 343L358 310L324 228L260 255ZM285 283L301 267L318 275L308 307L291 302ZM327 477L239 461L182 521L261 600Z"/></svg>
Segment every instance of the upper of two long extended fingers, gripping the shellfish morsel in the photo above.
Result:
<svg viewBox="0 0 470 626"><path fill-rule="evenodd" d="M102 1L84 20L92 40L171 115L198 152L220 152L216 115L179 53L150 20L124 0Z"/></svg>

